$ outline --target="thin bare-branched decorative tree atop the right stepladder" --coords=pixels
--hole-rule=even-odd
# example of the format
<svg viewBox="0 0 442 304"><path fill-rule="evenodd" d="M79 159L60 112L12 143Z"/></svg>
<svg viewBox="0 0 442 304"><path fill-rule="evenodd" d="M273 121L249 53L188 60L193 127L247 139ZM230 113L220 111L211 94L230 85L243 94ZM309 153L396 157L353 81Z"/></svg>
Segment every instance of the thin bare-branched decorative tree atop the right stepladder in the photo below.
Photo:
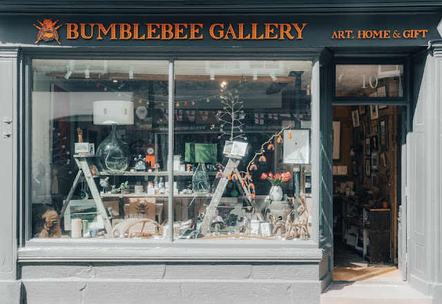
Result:
<svg viewBox="0 0 442 304"><path fill-rule="evenodd" d="M230 135L229 140L233 141L233 139L244 139L247 140L247 137L245 134L239 134L236 136L233 136L235 132L242 133L242 119L244 118L244 110L242 108L244 105L242 105L243 101L240 101L240 97L238 95L232 94L232 92L228 92L227 95L221 95L221 103L224 105L222 108L223 110L218 111L218 115L220 116L220 121L222 121L221 129L220 131L222 134L218 136L218 139L221 139L224 135ZM239 106L239 108L236 108L236 106ZM238 118L237 118L238 117ZM225 127L226 125L230 125L231 129L230 132L226 132Z"/></svg>

